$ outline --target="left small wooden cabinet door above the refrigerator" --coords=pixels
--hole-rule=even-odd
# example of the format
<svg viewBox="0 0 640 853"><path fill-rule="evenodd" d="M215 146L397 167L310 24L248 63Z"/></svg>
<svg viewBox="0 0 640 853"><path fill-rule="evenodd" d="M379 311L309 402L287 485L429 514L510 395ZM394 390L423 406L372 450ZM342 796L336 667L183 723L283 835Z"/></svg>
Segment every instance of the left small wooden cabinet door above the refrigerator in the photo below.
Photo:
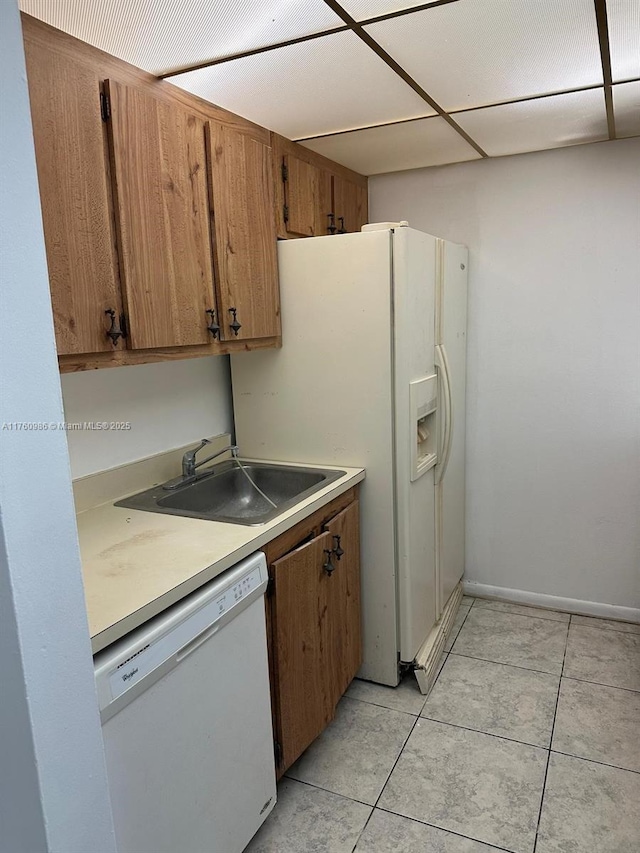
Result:
<svg viewBox="0 0 640 853"><path fill-rule="evenodd" d="M284 223L287 234L320 237L330 234L331 173L293 154L285 154Z"/></svg>

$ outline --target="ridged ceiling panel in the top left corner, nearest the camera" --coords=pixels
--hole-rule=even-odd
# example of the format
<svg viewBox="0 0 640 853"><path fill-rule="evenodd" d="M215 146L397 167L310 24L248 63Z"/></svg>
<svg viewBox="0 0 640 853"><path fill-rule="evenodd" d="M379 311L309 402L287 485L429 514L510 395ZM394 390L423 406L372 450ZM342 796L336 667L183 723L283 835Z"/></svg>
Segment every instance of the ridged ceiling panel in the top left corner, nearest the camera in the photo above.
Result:
<svg viewBox="0 0 640 853"><path fill-rule="evenodd" d="M154 74L343 25L324 0L20 0L20 8Z"/></svg>

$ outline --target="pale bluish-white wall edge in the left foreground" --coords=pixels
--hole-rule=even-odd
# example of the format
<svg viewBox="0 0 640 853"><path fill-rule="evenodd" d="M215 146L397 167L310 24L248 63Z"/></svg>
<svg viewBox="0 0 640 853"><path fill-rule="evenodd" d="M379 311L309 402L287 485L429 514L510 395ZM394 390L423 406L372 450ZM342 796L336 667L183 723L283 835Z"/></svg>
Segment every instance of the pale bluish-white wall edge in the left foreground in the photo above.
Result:
<svg viewBox="0 0 640 853"><path fill-rule="evenodd" d="M0 8L0 102L0 421L57 421L15 0ZM0 685L0 850L115 853L64 435L1 423Z"/></svg>

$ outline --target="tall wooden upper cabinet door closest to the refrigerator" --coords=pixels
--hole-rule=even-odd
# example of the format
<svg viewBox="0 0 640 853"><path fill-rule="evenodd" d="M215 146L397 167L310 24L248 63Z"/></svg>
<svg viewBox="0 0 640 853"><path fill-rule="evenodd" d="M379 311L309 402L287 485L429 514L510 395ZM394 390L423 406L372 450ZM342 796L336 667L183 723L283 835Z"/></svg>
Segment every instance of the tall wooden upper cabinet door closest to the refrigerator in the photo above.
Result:
<svg viewBox="0 0 640 853"><path fill-rule="evenodd" d="M221 338L280 335L271 147L250 133L207 124L210 209Z"/></svg>

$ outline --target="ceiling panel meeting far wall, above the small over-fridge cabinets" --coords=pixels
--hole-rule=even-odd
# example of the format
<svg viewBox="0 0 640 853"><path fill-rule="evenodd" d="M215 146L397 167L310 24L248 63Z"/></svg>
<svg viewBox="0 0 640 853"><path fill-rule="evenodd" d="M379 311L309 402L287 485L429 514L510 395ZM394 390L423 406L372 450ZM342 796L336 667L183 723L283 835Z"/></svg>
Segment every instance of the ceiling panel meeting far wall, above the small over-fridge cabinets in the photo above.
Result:
<svg viewBox="0 0 640 853"><path fill-rule="evenodd" d="M439 117L309 139L302 145L363 175L441 166L480 157Z"/></svg>

